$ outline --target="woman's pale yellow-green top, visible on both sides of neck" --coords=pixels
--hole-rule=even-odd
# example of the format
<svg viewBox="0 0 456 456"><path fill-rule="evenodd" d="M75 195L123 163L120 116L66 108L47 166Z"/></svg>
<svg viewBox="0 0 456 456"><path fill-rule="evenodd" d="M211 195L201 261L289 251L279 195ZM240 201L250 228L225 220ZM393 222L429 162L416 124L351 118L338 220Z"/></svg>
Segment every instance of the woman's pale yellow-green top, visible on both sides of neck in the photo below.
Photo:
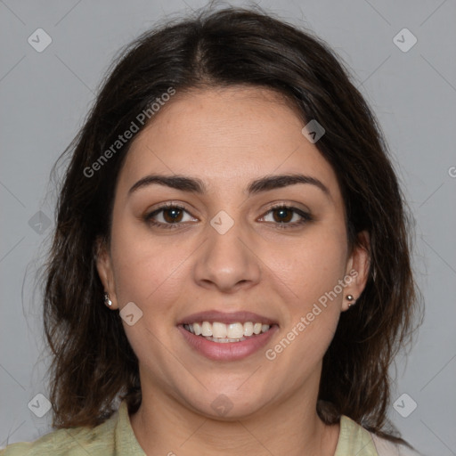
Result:
<svg viewBox="0 0 456 456"><path fill-rule="evenodd" d="M126 402L110 419L96 428L58 429L35 442L11 444L0 456L145 456L128 417ZM371 434L352 419L342 416L334 456L381 456ZM395 453L389 453L395 454ZM402 454L397 452L396 454Z"/></svg>

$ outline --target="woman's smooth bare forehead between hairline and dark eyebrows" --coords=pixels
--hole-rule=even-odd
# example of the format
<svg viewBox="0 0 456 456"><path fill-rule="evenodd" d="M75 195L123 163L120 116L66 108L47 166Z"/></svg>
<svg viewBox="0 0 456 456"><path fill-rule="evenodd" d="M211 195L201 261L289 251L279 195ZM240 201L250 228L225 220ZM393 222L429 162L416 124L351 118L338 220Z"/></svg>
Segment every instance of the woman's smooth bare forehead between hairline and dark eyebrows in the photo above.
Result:
<svg viewBox="0 0 456 456"><path fill-rule="evenodd" d="M302 134L295 108L256 87L177 93L132 142L119 183L148 173L194 175L216 190L258 175L303 173L338 182L330 164Z"/></svg>

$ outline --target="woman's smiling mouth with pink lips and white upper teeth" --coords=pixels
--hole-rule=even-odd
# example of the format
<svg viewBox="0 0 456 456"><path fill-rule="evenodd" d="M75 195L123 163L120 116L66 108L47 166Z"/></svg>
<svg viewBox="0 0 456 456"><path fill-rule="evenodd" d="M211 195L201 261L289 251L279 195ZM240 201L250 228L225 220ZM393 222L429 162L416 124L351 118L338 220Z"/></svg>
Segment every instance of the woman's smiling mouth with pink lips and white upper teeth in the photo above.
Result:
<svg viewBox="0 0 456 456"><path fill-rule="evenodd" d="M279 330L277 322L262 315L216 311L189 315L177 327L193 350L217 361L254 354Z"/></svg>

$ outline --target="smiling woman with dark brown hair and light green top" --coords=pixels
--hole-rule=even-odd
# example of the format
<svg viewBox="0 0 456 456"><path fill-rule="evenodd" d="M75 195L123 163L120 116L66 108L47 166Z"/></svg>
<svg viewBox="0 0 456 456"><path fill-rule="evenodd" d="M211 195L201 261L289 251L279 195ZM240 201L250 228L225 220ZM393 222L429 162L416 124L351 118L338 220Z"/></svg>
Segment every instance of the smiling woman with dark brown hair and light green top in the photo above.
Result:
<svg viewBox="0 0 456 456"><path fill-rule="evenodd" d="M325 45L234 8L152 30L69 152L58 430L1 454L411 454L386 418L416 305L403 197Z"/></svg>

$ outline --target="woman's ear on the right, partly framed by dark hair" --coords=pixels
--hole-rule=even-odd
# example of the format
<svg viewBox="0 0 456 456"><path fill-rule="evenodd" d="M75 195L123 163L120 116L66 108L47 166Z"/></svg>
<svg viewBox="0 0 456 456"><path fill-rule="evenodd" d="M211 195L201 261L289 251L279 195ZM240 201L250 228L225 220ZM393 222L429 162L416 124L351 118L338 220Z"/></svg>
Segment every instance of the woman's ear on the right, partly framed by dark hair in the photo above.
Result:
<svg viewBox="0 0 456 456"><path fill-rule="evenodd" d="M351 277L352 281L344 289L344 302L342 310L348 310L349 305L353 305L360 297L362 290L366 286L369 268L371 265L371 240L369 232L363 231L358 234L353 251L346 263L346 277ZM348 301L346 296L352 295L353 301Z"/></svg>

